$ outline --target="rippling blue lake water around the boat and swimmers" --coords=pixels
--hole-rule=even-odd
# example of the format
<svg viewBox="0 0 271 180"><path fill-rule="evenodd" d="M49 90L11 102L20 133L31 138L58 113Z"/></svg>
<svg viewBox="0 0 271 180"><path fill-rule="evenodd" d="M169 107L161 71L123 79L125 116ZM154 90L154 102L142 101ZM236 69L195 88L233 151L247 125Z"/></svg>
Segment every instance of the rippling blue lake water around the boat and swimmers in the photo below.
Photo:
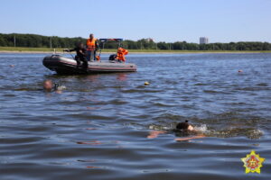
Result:
<svg viewBox="0 0 271 180"><path fill-rule="evenodd" d="M271 54L128 55L138 72L89 76L44 56L0 54L1 180L270 179ZM42 92L47 78L67 89ZM207 138L175 141L185 120ZM260 175L240 160L252 149Z"/></svg>

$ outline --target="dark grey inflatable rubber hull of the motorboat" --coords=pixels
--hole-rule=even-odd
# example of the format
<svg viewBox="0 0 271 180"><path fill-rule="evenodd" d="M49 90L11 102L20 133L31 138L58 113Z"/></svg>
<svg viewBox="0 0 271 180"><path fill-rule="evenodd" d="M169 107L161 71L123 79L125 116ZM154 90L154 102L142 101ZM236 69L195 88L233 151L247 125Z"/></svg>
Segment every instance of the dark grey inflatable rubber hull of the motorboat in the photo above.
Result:
<svg viewBox="0 0 271 180"><path fill-rule="evenodd" d="M76 60L65 58L60 55L51 55L43 58L43 66L55 71L57 74L74 75L74 74L95 74L95 73L117 73L117 72L135 72L136 65L132 63L89 62L88 69L77 67Z"/></svg>

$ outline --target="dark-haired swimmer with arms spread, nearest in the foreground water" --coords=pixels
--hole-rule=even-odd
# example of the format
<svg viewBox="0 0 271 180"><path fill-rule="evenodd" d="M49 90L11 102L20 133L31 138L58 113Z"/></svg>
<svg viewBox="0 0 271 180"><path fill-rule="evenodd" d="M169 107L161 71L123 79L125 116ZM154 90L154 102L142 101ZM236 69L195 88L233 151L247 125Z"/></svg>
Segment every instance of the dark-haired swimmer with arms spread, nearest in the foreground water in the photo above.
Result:
<svg viewBox="0 0 271 180"><path fill-rule="evenodd" d="M188 123L188 121L182 121L179 122L176 125L176 128L173 130L174 132L182 132L185 134L196 134L195 136L189 137L189 138L176 138L176 141L187 141L191 139L201 139L204 138L205 136L201 134L200 130L195 130L192 124ZM150 134L147 136L148 139L154 139L157 138L159 134L164 134L166 131L164 130L152 130Z"/></svg>

